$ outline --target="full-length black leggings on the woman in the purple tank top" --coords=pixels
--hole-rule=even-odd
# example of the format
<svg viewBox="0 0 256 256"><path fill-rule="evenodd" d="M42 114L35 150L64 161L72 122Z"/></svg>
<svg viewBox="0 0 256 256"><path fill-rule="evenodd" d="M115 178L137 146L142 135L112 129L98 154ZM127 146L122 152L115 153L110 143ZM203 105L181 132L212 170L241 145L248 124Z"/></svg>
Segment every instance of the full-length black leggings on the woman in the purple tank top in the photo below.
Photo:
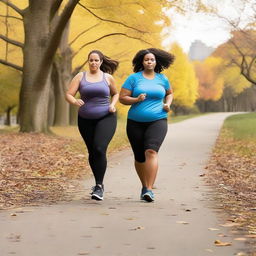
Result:
<svg viewBox="0 0 256 256"><path fill-rule="evenodd" d="M85 119L78 116L78 129L89 153L96 184L102 184L107 168L106 151L116 130L116 114L109 113L100 119Z"/></svg>

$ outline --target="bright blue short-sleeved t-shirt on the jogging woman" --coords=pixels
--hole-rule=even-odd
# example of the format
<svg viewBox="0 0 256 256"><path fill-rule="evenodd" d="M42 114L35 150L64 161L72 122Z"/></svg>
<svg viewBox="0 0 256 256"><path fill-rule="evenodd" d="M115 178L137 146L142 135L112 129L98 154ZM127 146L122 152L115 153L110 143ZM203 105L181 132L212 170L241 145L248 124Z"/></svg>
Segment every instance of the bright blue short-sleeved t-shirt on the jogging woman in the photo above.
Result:
<svg viewBox="0 0 256 256"><path fill-rule="evenodd" d="M163 100L166 90L170 89L167 77L160 73L155 73L154 79L147 79L142 71L130 75L122 88L132 92L132 97L138 97L141 93L146 93L146 99L131 105L128 112L128 119L137 122L152 122L162 118L167 118L167 112L163 109Z"/></svg>

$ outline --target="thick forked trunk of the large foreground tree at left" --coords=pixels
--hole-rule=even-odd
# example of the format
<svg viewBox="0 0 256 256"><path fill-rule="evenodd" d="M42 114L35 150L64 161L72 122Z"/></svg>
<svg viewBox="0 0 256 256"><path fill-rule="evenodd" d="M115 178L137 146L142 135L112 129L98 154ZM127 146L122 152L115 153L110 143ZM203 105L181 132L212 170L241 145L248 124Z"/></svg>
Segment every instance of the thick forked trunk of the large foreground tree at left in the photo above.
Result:
<svg viewBox="0 0 256 256"><path fill-rule="evenodd" d="M23 12L25 43L19 108L21 132L48 132L53 57L79 0L69 0L57 16L61 2L29 0L29 6Z"/></svg>

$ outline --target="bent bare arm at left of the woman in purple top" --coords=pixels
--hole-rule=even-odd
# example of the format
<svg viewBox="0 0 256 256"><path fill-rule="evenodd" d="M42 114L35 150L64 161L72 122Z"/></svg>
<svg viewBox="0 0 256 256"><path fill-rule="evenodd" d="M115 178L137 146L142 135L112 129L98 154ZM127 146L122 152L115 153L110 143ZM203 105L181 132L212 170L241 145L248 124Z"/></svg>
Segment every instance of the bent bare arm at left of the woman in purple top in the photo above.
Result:
<svg viewBox="0 0 256 256"><path fill-rule="evenodd" d="M84 105L84 102L81 99L76 99L75 96L78 91L79 84L80 84L82 77L83 77L83 73L80 72L71 80L71 82L69 84L69 89L66 92L66 97L65 97L67 102L69 102L70 104L79 106L79 107Z"/></svg>

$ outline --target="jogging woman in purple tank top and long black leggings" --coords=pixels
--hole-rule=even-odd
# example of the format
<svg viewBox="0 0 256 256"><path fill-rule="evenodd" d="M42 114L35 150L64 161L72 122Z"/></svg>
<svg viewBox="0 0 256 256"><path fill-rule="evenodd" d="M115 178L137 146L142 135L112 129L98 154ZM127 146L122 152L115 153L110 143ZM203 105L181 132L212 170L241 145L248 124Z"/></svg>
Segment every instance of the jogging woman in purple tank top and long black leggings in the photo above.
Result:
<svg viewBox="0 0 256 256"><path fill-rule="evenodd" d="M98 50L88 55L89 70L71 81L66 100L79 107L78 128L89 153L95 186L91 198L103 200L103 179L107 168L106 151L116 130L118 92L112 74L118 62ZM76 99L77 92L80 99Z"/></svg>

